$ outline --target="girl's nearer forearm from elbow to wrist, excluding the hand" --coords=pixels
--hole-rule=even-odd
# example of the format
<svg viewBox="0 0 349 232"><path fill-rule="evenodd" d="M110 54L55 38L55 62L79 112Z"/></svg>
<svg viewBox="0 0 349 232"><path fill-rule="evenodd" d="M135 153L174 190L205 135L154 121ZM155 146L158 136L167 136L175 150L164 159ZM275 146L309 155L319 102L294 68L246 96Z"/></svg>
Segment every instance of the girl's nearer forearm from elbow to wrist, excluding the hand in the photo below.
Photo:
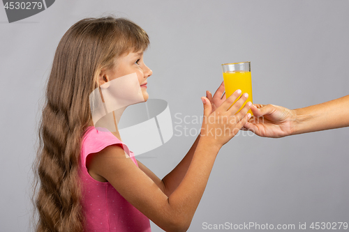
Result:
<svg viewBox="0 0 349 232"><path fill-rule="evenodd" d="M201 137L186 175L168 198L170 208L177 212L174 219L186 226L190 225L198 208L219 149Z"/></svg>

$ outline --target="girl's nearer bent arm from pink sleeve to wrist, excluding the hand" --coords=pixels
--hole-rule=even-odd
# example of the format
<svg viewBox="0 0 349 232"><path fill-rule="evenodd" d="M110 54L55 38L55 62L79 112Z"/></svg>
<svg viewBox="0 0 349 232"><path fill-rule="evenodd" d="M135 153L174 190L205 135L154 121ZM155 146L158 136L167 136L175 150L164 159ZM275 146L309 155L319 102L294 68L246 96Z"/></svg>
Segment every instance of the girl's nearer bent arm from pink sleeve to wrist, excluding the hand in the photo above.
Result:
<svg viewBox="0 0 349 232"><path fill-rule="evenodd" d="M89 169L107 179L121 196L161 229L187 231L219 150L218 146L202 140L186 177L170 196L126 158L120 146L107 146L94 154Z"/></svg>

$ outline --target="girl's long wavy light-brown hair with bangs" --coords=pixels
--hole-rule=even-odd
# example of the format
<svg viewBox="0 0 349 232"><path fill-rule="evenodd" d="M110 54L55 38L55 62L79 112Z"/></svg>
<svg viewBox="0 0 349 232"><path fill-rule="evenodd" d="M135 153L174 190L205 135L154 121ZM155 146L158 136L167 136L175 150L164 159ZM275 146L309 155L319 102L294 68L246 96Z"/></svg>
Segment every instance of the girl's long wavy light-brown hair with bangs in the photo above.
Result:
<svg viewBox="0 0 349 232"><path fill-rule="evenodd" d="M82 136L92 121L89 95L103 68L127 52L144 51L147 33L124 18L80 20L59 42L47 82L34 162L35 231L84 230L79 178Z"/></svg>

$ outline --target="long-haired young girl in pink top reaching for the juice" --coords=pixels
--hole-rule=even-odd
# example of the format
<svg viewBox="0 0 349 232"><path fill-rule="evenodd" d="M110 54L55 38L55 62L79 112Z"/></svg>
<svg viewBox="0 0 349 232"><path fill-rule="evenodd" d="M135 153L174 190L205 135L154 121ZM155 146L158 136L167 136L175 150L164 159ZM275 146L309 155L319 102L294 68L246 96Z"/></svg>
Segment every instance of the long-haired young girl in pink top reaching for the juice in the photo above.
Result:
<svg viewBox="0 0 349 232"><path fill-rule="evenodd" d="M149 219L165 231L188 230L216 155L251 116L251 102L237 113L247 95L236 91L225 100L223 84L202 97L198 139L161 180L135 160L118 131L94 127L89 105L95 88L131 73L147 101L148 45L140 26L114 17L80 20L59 42L39 130L36 231L151 231Z"/></svg>

